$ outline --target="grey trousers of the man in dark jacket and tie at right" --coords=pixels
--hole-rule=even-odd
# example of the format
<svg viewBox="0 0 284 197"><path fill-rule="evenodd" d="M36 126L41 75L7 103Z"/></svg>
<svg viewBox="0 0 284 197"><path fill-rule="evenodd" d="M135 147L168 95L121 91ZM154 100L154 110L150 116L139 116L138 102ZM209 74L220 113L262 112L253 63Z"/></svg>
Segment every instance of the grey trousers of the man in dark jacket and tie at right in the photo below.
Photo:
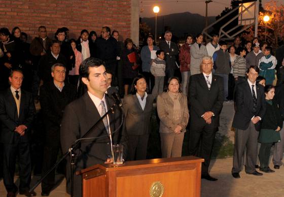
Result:
<svg viewBox="0 0 284 197"><path fill-rule="evenodd" d="M258 135L254 123L251 121L247 129L236 128L235 148L232 173L239 173L243 164L243 152L246 147L245 172L253 173L257 162Z"/></svg>

